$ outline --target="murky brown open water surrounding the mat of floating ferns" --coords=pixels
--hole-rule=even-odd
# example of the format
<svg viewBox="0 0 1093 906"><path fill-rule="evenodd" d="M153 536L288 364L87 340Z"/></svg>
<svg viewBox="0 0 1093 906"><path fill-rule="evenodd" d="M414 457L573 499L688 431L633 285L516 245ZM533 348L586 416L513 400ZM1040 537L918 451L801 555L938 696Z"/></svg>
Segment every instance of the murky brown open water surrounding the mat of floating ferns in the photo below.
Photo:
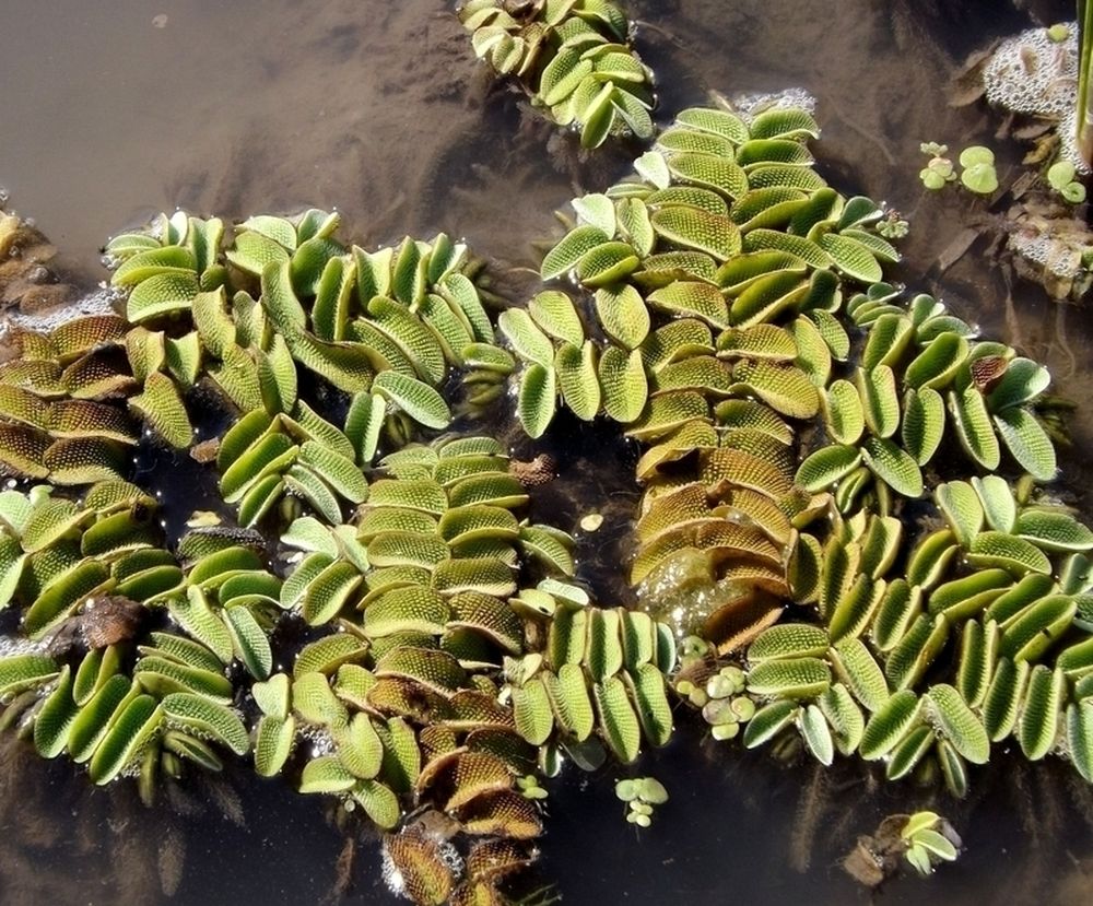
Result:
<svg viewBox="0 0 1093 906"><path fill-rule="evenodd" d="M362 243L447 230L502 267L529 266L552 211L576 189L625 168L622 151L583 158L489 89L449 4L439 0L14 0L0 12L0 185L61 249L69 272L103 278L109 232L160 209L242 217L333 207ZM1022 4L1024 7L1031 4ZM1048 21L1068 3L1034 4ZM1093 332L1078 309L983 260L980 242L937 266L969 222L966 197L926 196L918 144L991 139L978 107L950 109L961 57L1027 23L979 0L639 0L640 46L660 77L665 117L716 89L732 94L802 85L819 98L818 149L845 190L908 215L901 278L1045 361L1058 390L1093 387ZM166 16L166 20L160 19ZM154 21L155 20L155 21ZM158 26L163 27L158 27ZM1003 149L1000 175L1018 149ZM924 276L925 275L925 276ZM1093 443L1093 411L1076 420L1076 450ZM529 451L530 445L519 450ZM603 600L624 595L610 564L625 554L635 494L627 451L563 423L536 450L562 464L564 491L541 510L563 528L596 509L584 577ZM618 452L618 468L604 469ZM1071 456L1086 513L1093 463ZM172 518L185 514L172 514ZM579 533L578 533L579 534ZM613 797L618 770L552 788L543 880L572 904L868 903L837 861L890 812L949 814L968 851L932 882L903 879L881 899L1089 902L1090 795L1072 773L1000 760L954 804L874 774L766 755L728 754L684 728L640 773L671 802L637 834ZM240 776L148 812L124 787L91 790L67 765L43 765L17 743L0 755L0 891L4 904L318 903L336 882L342 838L314 801ZM225 817L226 815L226 817ZM390 897L374 847L359 848L348 903ZM164 890L177 886L173 898Z"/></svg>

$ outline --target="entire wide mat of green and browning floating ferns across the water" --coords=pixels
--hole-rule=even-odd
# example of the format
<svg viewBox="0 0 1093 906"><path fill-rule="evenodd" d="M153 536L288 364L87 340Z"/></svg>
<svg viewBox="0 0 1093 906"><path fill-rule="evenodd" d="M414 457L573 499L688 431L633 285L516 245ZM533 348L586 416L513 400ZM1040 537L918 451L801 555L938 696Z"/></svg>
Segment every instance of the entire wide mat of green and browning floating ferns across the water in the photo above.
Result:
<svg viewBox="0 0 1093 906"><path fill-rule="evenodd" d="M490 32L491 54L525 52L486 24L496 4L471 5L512 42ZM609 7L524 12L614 27ZM891 779L933 761L963 795L1012 737L1093 779L1093 532L1036 486L1057 471L1049 375L880 282L884 212L826 186L816 134L795 107L680 114L633 176L574 202L542 276L576 292L501 314L507 349L443 235L365 252L308 211L226 248L220 221L183 214L111 242L126 317L23 330L0 370L4 466L92 485L0 494L0 604L27 636L0 659L9 715L43 755L139 775L146 797L249 756L390 832L419 903L500 902L542 831L540 779L665 744L673 674L720 740L799 738ZM642 446L645 610L571 581L572 539L531 522L496 440L409 443L448 426L457 374L471 409L518 375L532 437L564 405ZM134 416L189 446L204 381L239 411L216 467L243 528L168 550L103 450L138 440ZM275 568L248 528L274 513ZM442 845L426 816L462 836ZM949 857L916 833L918 868Z"/></svg>

